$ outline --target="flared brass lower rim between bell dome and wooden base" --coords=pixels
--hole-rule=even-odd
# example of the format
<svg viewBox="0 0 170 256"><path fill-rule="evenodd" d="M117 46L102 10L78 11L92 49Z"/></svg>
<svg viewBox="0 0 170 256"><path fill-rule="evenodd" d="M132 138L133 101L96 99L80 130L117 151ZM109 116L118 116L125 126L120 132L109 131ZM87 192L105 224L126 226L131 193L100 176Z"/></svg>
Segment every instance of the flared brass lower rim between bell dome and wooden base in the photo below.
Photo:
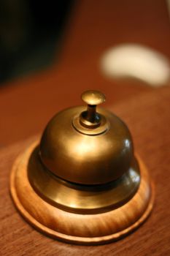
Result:
<svg viewBox="0 0 170 256"><path fill-rule="evenodd" d="M135 159L122 177L108 184L85 186L64 181L42 165L37 146L34 146L29 159L28 178L48 203L79 214L96 214L122 206L134 196L140 183Z"/></svg>

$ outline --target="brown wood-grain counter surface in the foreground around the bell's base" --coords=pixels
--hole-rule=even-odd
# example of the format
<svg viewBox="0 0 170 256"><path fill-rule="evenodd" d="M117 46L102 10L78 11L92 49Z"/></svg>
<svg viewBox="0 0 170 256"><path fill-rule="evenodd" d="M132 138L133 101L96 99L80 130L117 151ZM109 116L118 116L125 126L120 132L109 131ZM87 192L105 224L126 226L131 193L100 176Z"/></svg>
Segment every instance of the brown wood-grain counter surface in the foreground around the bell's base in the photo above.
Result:
<svg viewBox="0 0 170 256"><path fill-rule="evenodd" d="M128 124L136 151L155 181L155 207L130 236L102 246L75 246L47 238L24 221L9 196L9 172L26 143L0 152L1 255L169 255L170 254L170 88L163 87L112 106ZM33 139L34 140L34 139Z"/></svg>

